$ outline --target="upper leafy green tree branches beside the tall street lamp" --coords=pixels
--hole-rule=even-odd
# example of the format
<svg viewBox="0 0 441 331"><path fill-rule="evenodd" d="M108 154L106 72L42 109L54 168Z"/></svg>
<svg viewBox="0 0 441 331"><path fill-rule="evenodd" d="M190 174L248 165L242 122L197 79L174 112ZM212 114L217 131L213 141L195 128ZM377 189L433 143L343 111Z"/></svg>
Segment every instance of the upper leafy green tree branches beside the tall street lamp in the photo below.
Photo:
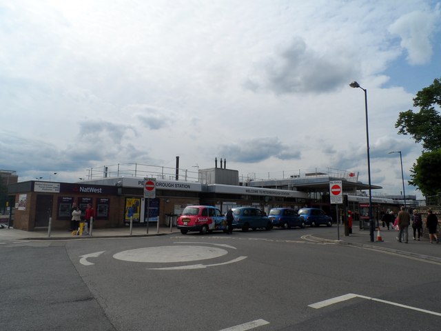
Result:
<svg viewBox="0 0 441 331"><path fill-rule="evenodd" d="M441 148L441 79L435 79L431 86L417 92L413 106L420 112L400 112L395 127L398 134L410 134L417 143L422 142L424 150ZM435 109L438 106L438 110Z"/></svg>

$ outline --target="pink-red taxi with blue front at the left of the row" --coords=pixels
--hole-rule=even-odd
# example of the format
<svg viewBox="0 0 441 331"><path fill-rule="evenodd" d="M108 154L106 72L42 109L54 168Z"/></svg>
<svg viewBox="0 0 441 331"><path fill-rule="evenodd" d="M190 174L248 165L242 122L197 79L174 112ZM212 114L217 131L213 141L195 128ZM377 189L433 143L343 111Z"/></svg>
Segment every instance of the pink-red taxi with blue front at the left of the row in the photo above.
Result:
<svg viewBox="0 0 441 331"><path fill-rule="evenodd" d="M225 216L212 205L189 205L184 208L176 222L176 227L182 234L189 231L198 231L201 234L213 230L227 232L227 221Z"/></svg>

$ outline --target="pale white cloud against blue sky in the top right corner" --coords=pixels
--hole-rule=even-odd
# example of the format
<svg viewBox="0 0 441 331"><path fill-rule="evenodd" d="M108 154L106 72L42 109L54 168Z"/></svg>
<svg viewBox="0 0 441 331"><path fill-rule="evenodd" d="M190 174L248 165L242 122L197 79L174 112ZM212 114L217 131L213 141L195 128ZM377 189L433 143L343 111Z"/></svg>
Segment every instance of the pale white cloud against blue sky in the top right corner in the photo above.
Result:
<svg viewBox="0 0 441 331"><path fill-rule="evenodd" d="M410 64L429 63L433 54L431 37L441 19L440 13L440 3L437 3L435 10L431 12L420 10L409 12L389 26L389 32L400 37L400 45L407 51L407 61Z"/></svg>

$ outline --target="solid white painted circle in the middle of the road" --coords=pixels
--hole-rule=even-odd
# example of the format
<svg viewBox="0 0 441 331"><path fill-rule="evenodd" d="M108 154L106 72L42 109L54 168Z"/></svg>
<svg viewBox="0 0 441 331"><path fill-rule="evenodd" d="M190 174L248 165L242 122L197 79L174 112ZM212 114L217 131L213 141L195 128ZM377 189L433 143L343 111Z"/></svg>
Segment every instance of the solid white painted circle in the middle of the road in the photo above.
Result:
<svg viewBox="0 0 441 331"><path fill-rule="evenodd" d="M131 262L170 263L214 259L227 253L222 248L176 245L125 250L114 254L113 257Z"/></svg>

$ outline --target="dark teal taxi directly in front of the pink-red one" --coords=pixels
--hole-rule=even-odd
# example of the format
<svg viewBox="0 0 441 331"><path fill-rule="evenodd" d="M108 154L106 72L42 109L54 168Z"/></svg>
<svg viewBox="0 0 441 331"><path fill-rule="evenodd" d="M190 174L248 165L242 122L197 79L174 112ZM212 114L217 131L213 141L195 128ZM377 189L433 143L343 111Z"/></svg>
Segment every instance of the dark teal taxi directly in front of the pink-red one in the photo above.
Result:
<svg viewBox="0 0 441 331"><path fill-rule="evenodd" d="M256 230L257 228L265 228L271 230L273 223L263 214L260 209L254 207L237 207L233 210L233 228L248 231L249 228Z"/></svg>

